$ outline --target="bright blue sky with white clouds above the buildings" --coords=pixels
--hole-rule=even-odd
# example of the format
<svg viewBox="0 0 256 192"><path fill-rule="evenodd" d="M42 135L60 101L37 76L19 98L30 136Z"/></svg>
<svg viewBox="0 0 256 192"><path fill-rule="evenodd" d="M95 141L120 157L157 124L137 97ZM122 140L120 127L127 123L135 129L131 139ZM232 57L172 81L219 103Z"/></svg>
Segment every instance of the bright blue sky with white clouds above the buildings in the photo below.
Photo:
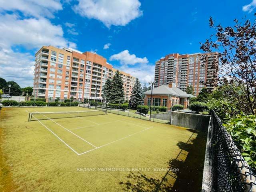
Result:
<svg viewBox="0 0 256 192"><path fill-rule="evenodd" d="M255 7L256 0L0 0L0 77L32 86L35 52L53 45L96 52L149 82L162 56L201 52L210 16L230 26L253 21Z"/></svg>

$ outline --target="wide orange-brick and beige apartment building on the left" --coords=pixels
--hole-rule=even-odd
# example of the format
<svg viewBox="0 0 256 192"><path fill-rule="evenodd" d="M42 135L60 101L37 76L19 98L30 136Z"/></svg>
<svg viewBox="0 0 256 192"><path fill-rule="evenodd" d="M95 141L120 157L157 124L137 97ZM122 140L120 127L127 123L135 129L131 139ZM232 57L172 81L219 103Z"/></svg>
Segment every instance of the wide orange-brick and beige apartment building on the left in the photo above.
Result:
<svg viewBox="0 0 256 192"><path fill-rule="evenodd" d="M106 58L71 48L43 46L36 53L34 94L39 98L102 100L102 86L117 69ZM125 99L130 98L135 78L120 71ZM97 92L97 94L96 94Z"/></svg>

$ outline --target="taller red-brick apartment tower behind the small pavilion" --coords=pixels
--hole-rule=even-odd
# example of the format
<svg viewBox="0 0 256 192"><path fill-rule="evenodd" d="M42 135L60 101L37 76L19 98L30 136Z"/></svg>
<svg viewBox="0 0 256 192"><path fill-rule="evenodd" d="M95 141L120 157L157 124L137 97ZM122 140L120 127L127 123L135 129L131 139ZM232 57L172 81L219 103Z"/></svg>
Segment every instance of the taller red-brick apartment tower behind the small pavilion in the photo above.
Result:
<svg viewBox="0 0 256 192"><path fill-rule="evenodd" d="M201 57L205 55L208 61L202 63ZM217 55L217 52L214 54L168 54L155 63L155 86L167 85L172 82L183 91L187 86L193 86L196 95L204 87L212 90L214 88L211 81L212 62Z"/></svg>

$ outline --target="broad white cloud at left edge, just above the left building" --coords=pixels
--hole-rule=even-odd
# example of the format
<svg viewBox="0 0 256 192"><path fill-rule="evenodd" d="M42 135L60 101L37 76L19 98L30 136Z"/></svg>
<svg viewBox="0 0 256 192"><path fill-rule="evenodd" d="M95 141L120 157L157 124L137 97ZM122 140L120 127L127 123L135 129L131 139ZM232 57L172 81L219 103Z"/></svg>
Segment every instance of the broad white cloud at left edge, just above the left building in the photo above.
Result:
<svg viewBox="0 0 256 192"><path fill-rule="evenodd" d="M10 47L22 45L40 48L43 45L76 48L76 44L63 37L62 27L45 18L20 19L16 15L0 14L0 42Z"/></svg>

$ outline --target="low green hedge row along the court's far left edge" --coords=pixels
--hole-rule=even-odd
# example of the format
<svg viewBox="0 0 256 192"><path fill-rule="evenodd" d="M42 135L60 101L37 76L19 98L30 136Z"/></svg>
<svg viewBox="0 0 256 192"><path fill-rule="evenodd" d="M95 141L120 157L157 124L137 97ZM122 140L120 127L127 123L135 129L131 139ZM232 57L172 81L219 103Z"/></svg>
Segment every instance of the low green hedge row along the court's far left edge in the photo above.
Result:
<svg viewBox="0 0 256 192"><path fill-rule="evenodd" d="M15 100L3 100L1 102L3 106L19 106L19 102ZM78 102L72 102L71 106L78 106ZM51 107L57 107L57 106L70 106L70 102L50 102L46 103L44 101L22 101L20 102L20 106L38 106L38 107L43 107L43 106L51 106Z"/></svg>

